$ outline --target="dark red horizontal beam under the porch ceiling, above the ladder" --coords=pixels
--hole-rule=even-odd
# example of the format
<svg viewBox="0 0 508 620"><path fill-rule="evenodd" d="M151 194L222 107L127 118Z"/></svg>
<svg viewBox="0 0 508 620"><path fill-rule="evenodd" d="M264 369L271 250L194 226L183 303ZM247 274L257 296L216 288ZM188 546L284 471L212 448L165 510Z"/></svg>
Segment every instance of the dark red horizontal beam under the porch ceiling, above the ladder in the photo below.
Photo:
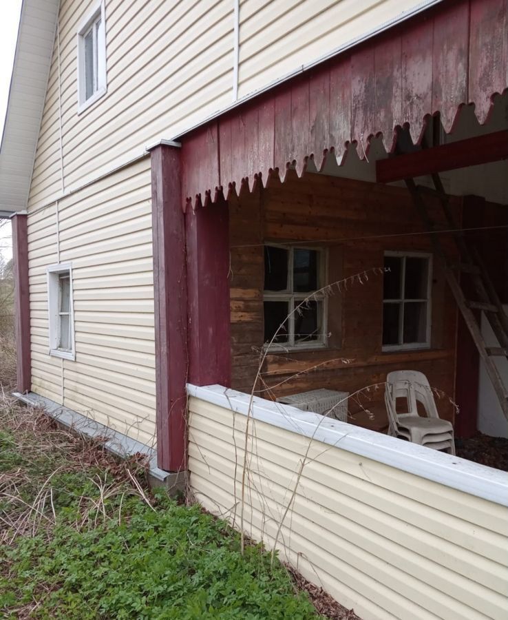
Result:
<svg viewBox="0 0 508 620"><path fill-rule="evenodd" d="M467 140L398 155L376 162L378 183L434 172L445 172L508 158L508 131L494 132Z"/></svg>

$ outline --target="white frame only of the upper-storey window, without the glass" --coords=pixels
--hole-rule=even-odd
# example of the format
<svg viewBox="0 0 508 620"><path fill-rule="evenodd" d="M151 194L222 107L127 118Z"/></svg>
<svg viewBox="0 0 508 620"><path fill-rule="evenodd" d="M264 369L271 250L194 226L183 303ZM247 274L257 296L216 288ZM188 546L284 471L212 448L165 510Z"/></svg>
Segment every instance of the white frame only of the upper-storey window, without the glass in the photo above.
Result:
<svg viewBox="0 0 508 620"><path fill-rule="evenodd" d="M86 79L86 43L85 37L92 33L92 80L93 92L87 96ZM78 114L81 114L90 105L95 103L107 92L106 72L106 28L105 3L100 0L95 3L87 17L78 26Z"/></svg>

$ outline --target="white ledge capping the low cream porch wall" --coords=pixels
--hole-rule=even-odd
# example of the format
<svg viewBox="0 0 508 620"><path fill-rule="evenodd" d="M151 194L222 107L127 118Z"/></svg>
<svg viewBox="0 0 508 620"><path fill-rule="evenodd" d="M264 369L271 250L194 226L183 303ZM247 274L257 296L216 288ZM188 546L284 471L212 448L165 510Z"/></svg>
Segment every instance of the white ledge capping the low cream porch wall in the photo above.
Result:
<svg viewBox="0 0 508 620"><path fill-rule="evenodd" d="M257 396L252 398L251 407L250 395L222 385L187 384L187 393L241 415L247 416L251 410L254 420L508 506L508 477L498 469Z"/></svg>

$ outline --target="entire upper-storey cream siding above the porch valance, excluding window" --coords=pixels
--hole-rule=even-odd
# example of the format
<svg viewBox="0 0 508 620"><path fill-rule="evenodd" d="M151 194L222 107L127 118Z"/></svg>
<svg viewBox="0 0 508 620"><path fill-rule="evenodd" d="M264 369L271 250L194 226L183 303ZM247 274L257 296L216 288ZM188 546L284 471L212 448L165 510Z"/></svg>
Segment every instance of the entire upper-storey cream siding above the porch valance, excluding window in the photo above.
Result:
<svg viewBox="0 0 508 620"><path fill-rule="evenodd" d="M238 95L248 96L299 71L419 4L242 1ZM78 114L76 32L89 6L83 0L61 3L60 45L55 42L29 208L52 200L61 183L60 124L67 191L233 103L233 0L106 0L107 94Z"/></svg>

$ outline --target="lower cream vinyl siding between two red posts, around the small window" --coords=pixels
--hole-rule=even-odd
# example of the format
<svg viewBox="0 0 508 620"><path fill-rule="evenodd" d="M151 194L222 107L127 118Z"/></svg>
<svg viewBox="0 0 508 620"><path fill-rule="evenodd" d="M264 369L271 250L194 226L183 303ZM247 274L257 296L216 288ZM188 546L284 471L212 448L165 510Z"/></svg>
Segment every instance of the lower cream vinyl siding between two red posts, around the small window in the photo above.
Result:
<svg viewBox="0 0 508 620"><path fill-rule="evenodd" d="M151 444L155 435L150 161L28 217L32 391ZM76 361L48 355L45 269L72 262Z"/></svg>

